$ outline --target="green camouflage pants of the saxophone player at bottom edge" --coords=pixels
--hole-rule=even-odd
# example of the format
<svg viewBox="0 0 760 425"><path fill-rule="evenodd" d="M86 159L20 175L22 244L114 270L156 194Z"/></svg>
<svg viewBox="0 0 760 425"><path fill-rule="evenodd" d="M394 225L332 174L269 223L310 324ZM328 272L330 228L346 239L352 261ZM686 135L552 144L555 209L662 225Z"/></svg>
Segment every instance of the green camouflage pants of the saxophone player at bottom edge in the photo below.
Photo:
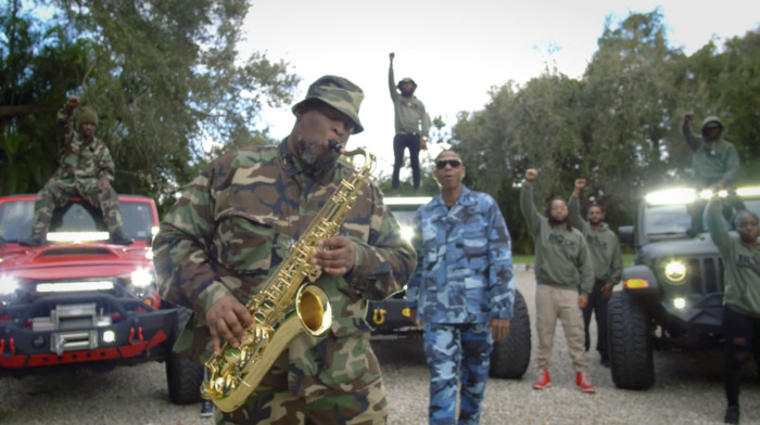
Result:
<svg viewBox="0 0 760 425"><path fill-rule="evenodd" d="M217 409L214 416L217 425L384 425L387 420L388 401L379 377L365 392L333 389L306 397L261 385L243 407L230 413Z"/></svg>

